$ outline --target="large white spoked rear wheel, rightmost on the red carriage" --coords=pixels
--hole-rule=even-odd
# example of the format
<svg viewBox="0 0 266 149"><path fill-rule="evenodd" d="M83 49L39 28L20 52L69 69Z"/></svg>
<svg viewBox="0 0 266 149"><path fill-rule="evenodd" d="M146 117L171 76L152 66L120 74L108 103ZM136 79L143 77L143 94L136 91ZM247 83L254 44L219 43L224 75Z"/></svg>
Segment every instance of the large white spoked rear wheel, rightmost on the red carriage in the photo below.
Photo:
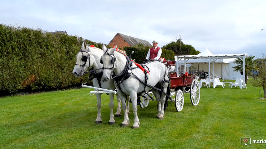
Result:
<svg viewBox="0 0 266 149"><path fill-rule="evenodd" d="M200 84L198 80L193 79L190 86L190 100L193 106L199 104L200 96L201 96Z"/></svg>

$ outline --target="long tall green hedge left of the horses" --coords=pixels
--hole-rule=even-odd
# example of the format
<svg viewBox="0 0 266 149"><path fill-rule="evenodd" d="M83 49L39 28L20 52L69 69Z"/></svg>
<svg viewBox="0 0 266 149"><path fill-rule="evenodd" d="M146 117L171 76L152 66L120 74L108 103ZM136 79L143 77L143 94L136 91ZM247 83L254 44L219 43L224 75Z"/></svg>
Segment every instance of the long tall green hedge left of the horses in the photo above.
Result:
<svg viewBox="0 0 266 149"><path fill-rule="evenodd" d="M102 43L77 36L0 25L0 95L63 89L89 82L88 75L72 75L82 41L102 48Z"/></svg>

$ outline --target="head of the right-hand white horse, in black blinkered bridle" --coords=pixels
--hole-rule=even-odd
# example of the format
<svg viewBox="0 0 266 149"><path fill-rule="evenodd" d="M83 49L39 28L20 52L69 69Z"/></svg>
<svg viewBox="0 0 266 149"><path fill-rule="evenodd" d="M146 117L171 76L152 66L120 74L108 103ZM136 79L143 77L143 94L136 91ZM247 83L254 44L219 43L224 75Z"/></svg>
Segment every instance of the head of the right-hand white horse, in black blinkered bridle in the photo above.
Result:
<svg viewBox="0 0 266 149"><path fill-rule="evenodd" d="M117 45L114 48L106 48L105 45L103 45L104 55L101 57L101 63L104 65L104 82L108 82L109 79L112 78L113 71L116 67L116 57L114 56L116 48Z"/></svg>

